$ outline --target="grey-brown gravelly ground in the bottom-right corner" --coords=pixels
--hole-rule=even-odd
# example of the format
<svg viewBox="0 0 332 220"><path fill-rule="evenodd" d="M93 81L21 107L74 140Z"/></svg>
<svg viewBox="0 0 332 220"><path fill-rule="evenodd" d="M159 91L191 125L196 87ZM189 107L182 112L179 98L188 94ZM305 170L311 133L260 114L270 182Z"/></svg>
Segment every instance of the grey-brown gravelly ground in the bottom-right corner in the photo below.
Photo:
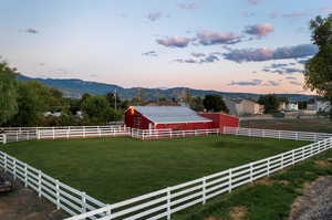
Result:
<svg viewBox="0 0 332 220"><path fill-rule="evenodd" d="M288 220L332 219L332 176L304 185L303 195L291 206Z"/></svg>

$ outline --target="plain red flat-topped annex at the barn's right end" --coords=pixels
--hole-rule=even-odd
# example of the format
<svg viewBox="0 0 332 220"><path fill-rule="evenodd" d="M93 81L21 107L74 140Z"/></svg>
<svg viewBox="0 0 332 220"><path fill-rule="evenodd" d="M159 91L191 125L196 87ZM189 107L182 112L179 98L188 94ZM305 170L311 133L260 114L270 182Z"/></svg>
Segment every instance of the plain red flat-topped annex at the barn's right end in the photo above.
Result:
<svg viewBox="0 0 332 220"><path fill-rule="evenodd" d="M212 119L214 121L214 128L224 128L225 126L228 127L238 127L239 126L239 118L234 117L230 115L226 115L222 113L199 113L200 116Z"/></svg>

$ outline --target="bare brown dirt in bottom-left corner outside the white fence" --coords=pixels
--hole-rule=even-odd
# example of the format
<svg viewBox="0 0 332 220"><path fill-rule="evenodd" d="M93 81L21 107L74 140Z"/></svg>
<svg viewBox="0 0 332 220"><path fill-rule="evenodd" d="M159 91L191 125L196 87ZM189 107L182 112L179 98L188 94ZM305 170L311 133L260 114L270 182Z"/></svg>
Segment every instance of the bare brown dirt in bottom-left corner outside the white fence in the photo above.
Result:
<svg viewBox="0 0 332 220"><path fill-rule="evenodd" d="M14 181L13 186L13 191L0 193L1 220L60 220L69 217L21 182Z"/></svg>

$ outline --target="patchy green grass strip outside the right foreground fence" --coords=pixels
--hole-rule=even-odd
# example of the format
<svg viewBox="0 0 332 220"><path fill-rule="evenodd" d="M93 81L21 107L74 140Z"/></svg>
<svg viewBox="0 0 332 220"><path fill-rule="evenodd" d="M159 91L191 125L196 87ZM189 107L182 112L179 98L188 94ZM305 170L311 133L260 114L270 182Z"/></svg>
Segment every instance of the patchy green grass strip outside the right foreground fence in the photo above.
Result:
<svg viewBox="0 0 332 220"><path fill-rule="evenodd" d="M318 163L320 161L320 163ZM323 163L322 163L323 161ZM206 206L196 206L175 214L176 220L229 220L235 208L246 210L237 220L287 219L290 207L302 195L304 185L320 176L332 175L332 151L304 160L264 181L217 197Z"/></svg>

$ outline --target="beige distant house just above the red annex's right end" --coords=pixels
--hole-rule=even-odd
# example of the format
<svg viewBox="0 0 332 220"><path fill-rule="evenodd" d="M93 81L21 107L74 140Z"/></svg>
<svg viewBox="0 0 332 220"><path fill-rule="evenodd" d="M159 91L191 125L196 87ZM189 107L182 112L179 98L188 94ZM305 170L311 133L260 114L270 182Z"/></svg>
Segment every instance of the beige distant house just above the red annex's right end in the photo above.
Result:
<svg viewBox="0 0 332 220"><path fill-rule="evenodd" d="M261 115L264 112L264 106L260 105L253 101L242 99L236 101L230 98L225 98L225 104L229 109L230 115Z"/></svg>

